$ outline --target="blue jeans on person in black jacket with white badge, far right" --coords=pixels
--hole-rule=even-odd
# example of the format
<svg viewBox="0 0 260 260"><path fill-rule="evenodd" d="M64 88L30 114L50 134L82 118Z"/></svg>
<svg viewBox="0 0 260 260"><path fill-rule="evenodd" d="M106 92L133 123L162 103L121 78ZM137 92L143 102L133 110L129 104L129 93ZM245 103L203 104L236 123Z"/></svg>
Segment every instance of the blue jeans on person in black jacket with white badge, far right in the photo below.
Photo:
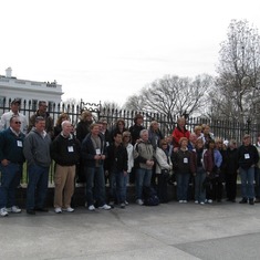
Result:
<svg viewBox="0 0 260 260"><path fill-rule="evenodd" d="M254 197L254 168L250 167L249 169L239 168L241 177L241 195L243 198L253 199Z"/></svg>

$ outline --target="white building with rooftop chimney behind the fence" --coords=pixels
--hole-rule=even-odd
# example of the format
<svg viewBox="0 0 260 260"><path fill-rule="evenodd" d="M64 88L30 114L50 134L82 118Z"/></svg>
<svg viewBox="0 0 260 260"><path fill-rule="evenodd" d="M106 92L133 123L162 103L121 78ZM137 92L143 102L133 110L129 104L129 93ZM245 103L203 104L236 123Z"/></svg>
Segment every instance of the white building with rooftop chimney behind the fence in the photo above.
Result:
<svg viewBox="0 0 260 260"><path fill-rule="evenodd" d="M6 76L0 75L0 102L3 98L20 98L23 101L31 101L37 105L39 101L46 101L48 105L59 104L62 101L62 85L54 82L38 82L20 80L12 76L12 69L6 70Z"/></svg>

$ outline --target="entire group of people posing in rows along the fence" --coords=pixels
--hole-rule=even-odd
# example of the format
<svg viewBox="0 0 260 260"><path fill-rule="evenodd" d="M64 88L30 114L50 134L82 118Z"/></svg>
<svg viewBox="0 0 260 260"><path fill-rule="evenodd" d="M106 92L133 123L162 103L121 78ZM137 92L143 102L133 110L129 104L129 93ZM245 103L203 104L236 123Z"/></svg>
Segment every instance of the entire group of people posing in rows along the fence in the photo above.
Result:
<svg viewBox="0 0 260 260"><path fill-rule="evenodd" d="M256 145L249 135L245 135L239 147L235 139L227 145L214 137L208 125L196 126L190 133L184 117L178 118L173 134L165 137L156 121L146 129L141 114L129 128L124 119L117 119L108 129L107 122L94 122L90 111L81 114L75 128L66 113L59 116L54 126L44 101L39 102L28 124L19 108L20 100L13 100L10 112L0 121L0 216L21 212L15 189L24 162L29 215L48 211L44 204L52 162L55 164L53 207L56 214L74 211L71 200L75 181L85 183L85 207L91 211L110 210L115 205L125 208L128 183L135 183L138 205L145 204L145 187L154 188L160 202L168 202L167 186L173 184L177 185L178 202L191 199L200 205L220 202L223 184L227 200L235 202L238 173L240 204L253 205L260 199L260 137Z"/></svg>

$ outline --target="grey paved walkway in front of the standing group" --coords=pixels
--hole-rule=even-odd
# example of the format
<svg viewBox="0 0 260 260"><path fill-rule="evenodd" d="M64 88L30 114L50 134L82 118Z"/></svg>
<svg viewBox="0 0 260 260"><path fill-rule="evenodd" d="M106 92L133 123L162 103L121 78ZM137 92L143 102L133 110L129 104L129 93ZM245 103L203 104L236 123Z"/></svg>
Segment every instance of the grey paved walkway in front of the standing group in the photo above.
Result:
<svg viewBox="0 0 260 260"><path fill-rule="evenodd" d="M259 259L260 205L195 205L0 218L0 259Z"/></svg>

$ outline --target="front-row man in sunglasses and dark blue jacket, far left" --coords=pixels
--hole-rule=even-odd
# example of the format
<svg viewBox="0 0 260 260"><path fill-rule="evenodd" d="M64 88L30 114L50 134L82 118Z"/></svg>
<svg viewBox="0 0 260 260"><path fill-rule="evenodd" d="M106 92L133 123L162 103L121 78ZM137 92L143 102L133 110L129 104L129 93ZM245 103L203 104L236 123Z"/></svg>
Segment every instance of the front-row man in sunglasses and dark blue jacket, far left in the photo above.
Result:
<svg viewBox="0 0 260 260"><path fill-rule="evenodd" d="M20 131L19 116L10 118L10 126L0 132L0 169L2 173L0 185L0 216L8 212L19 214L15 206L15 189L20 184L24 156L22 153L24 134Z"/></svg>

